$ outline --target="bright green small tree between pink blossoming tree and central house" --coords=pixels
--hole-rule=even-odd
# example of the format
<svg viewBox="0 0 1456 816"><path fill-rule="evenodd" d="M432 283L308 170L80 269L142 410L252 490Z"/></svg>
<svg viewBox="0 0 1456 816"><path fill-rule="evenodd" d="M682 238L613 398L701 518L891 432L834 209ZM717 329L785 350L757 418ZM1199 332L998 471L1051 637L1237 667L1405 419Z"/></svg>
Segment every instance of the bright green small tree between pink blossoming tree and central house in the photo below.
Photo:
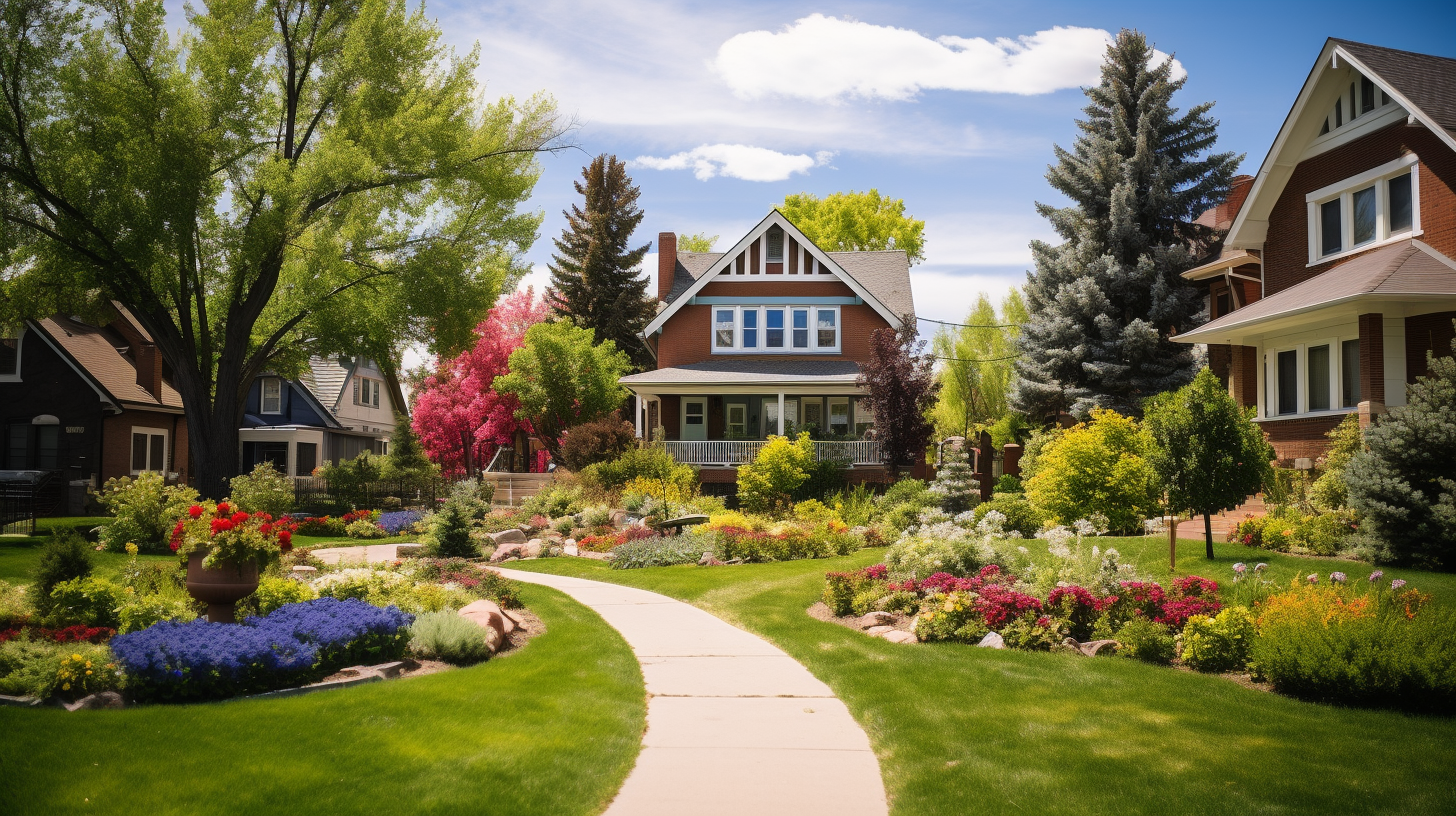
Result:
<svg viewBox="0 0 1456 816"><path fill-rule="evenodd" d="M591 329L568 321L536 323L511 353L510 373L495 377L495 391L515 396L515 418L530 423L552 460L565 465L562 434L616 411L626 399L617 379L630 366L610 340L594 345Z"/></svg>

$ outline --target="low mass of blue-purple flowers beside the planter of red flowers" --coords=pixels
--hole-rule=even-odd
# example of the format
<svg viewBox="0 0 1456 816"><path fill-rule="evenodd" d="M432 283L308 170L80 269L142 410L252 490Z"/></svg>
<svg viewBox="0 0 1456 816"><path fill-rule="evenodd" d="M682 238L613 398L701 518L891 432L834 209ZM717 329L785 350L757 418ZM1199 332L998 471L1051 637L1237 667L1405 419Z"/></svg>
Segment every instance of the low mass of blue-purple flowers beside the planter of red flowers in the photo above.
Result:
<svg viewBox="0 0 1456 816"><path fill-rule="evenodd" d="M363 600L290 603L243 624L163 621L118 635L112 654L135 699L220 699L307 683L368 659L393 659L414 616Z"/></svg>

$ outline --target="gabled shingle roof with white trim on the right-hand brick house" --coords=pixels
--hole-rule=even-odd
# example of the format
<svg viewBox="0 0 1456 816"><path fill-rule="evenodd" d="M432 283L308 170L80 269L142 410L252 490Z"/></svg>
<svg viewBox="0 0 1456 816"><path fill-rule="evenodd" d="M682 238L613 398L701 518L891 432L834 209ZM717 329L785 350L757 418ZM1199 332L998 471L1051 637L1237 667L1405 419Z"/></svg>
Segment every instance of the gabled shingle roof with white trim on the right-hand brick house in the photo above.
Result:
<svg viewBox="0 0 1456 816"><path fill-rule="evenodd" d="M1360 71L1411 118L1456 150L1456 60L1331 38L1325 41L1268 156L1259 165L1254 187L1229 229L1224 246L1248 249L1264 242L1270 208L1316 136L1318 125L1306 114L1313 111L1324 121L1325 102L1334 103L1331 93L1335 92L1321 80L1328 71L1347 66Z"/></svg>

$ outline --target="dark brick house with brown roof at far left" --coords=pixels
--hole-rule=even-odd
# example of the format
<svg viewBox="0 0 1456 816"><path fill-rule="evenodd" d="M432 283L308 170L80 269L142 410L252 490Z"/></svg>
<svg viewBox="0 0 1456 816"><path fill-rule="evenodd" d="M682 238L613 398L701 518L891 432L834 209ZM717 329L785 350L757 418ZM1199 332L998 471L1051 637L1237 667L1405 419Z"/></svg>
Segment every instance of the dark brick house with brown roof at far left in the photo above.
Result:
<svg viewBox="0 0 1456 816"><path fill-rule="evenodd" d="M105 325L57 315L0 334L13 335L0 338L0 469L93 488L143 471L186 481L182 398L125 309Z"/></svg>

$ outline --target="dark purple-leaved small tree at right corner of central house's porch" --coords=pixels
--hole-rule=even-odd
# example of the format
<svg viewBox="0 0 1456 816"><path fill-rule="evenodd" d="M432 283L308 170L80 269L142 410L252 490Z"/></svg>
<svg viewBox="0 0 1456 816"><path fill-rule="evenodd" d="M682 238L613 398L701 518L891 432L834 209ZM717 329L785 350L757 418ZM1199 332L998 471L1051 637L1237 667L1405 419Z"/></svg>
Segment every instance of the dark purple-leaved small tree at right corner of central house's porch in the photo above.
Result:
<svg viewBox="0 0 1456 816"><path fill-rule="evenodd" d="M920 353L923 345L911 321L898 331L877 329L869 335L869 360L859 367L856 383L875 412L875 439L893 471L913 466L935 434L929 415L941 383L935 360Z"/></svg>

